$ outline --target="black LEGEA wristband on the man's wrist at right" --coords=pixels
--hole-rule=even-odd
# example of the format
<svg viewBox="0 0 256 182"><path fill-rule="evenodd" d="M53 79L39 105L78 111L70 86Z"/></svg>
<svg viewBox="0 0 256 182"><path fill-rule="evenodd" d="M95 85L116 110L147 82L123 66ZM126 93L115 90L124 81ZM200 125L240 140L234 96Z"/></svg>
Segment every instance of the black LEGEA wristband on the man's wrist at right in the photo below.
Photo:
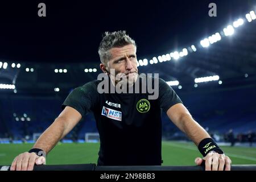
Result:
<svg viewBox="0 0 256 182"><path fill-rule="evenodd" d="M224 152L218 147L217 143L212 138L205 138L201 140L198 145L198 149L203 156L206 156L210 151L215 151L218 154L224 154Z"/></svg>

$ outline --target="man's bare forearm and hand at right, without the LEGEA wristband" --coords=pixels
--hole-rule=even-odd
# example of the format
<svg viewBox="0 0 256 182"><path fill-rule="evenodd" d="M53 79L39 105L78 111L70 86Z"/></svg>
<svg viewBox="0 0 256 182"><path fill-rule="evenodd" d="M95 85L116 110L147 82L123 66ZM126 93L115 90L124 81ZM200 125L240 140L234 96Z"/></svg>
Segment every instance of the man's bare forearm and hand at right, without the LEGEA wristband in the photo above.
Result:
<svg viewBox="0 0 256 182"><path fill-rule="evenodd" d="M197 123L183 104L175 104L167 110L167 115L171 121L189 138L199 146L199 143L210 138L210 135ZM224 165L225 170L230 170L230 164L232 161L225 154L218 154L217 152L209 152L204 158L205 160L205 170L207 171L223 171ZM195 162L200 165L203 159L196 158Z"/></svg>

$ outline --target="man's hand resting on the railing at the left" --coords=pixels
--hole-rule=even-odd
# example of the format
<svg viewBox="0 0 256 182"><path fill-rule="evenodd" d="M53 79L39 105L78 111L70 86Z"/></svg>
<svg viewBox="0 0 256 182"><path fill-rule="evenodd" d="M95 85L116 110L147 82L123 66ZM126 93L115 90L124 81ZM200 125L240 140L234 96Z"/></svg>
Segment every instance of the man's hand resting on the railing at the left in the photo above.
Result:
<svg viewBox="0 0 256 182"><path fill-rule="evenodd" d="M32 171L34 166L46 164L44 156L38 156L35 152L24 152L13 160L11 164L11 171Z"/></svg>

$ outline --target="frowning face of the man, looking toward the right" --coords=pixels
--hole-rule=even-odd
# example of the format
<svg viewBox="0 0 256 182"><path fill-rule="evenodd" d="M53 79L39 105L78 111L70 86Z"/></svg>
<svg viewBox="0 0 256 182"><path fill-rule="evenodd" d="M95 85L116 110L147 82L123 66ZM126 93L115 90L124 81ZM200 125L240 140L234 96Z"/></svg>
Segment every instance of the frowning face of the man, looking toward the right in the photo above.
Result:
<svg viewBox="0 0 256 182"><path fill-rule="evenodd" d="M106 65L106 69L110 72L110 69L115 69L115 83L119 82L123 75L126 76L129 84L133 84L137 80L138 68L137 68L137 56L136 48L133 44L129 44L123 47L115 47L109 50L112 57ZM122 79L121 79L122 80Z"/></svg>

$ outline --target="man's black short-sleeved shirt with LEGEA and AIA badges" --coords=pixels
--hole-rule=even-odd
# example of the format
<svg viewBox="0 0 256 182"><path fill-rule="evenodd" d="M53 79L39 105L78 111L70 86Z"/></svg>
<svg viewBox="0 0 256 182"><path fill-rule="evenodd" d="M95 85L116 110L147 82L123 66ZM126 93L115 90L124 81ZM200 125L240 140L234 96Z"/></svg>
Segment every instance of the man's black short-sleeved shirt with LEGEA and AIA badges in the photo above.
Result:
<svg viewBox="0 0 256 182"><path fill-rule="evenodd" d="M154 79L159 79L155 100L148 100L148 92L100 94L97 86L101 81L94 80L74 89L64 101L63 109L73 107L82 116L93 112L100 134L98 165L161 165L161 112L182 102L164 80ZM142 78L137 81L144 84Z"/></svg>

